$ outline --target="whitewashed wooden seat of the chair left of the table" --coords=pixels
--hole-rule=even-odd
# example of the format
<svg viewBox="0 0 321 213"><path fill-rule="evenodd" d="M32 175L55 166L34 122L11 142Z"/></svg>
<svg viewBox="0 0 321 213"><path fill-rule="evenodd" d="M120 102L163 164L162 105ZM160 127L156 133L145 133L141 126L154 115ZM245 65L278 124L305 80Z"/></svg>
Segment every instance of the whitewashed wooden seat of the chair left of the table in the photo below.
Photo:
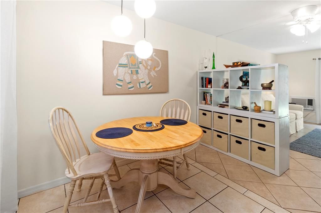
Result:
<svg viewBox="0 0 321 213"><path fill-rule="evenodd" d="M112 166L113 161L113 156L102 152L85 155L74 163L77 176L74 176L73 173L69 173L68 168L65 170L65 174L71 180L93 175L104 175Z"/></svg>

